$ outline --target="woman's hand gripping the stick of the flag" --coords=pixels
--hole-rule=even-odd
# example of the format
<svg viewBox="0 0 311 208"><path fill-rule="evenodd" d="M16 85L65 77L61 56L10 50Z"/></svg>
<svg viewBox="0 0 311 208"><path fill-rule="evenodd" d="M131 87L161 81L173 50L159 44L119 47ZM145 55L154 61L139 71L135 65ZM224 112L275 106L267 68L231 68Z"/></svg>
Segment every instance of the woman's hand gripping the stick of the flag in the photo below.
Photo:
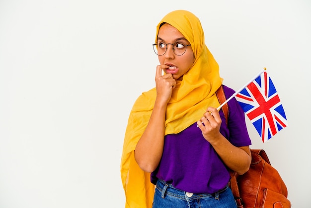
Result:
<svg viewBox="0 0 311 208"><path fill-rule="evenodd" d="M221 123L222 119L215 107L208 107L203 117L197 121L197 125L201 129L204 138L210 143L220 138L221 133L219 130Z"/></svg>

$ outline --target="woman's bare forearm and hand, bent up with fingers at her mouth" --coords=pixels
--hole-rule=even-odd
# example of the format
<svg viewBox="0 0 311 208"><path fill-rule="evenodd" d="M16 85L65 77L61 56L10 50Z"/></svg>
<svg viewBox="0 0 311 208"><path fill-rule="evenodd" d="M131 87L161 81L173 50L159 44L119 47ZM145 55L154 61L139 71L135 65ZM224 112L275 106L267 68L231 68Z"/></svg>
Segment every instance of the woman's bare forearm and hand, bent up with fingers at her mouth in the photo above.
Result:
<svg viewBox="0 0 311 208"><path fill-rule="evenodd" d="M137 142L135 160L139 167L146 172L153 172L158 166L164 146L165 113L168 101L172 96L172 89L176 81L172 74L162 75L166 65L156 67L156 102L148 125Z"/></svg>

